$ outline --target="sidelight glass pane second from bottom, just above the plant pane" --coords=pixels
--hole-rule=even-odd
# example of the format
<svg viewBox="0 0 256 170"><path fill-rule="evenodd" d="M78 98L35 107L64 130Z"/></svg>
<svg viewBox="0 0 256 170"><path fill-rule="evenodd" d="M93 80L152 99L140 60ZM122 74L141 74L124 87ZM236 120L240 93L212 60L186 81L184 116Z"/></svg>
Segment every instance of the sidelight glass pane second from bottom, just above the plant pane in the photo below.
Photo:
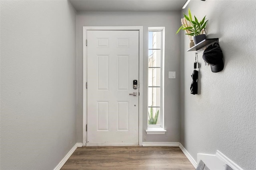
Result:
<svg viewBox="0 0 256 170"><path fill-rule="evenodd" d="M161 88L149 87L148 88L148 106L161 106Z"/></svg>

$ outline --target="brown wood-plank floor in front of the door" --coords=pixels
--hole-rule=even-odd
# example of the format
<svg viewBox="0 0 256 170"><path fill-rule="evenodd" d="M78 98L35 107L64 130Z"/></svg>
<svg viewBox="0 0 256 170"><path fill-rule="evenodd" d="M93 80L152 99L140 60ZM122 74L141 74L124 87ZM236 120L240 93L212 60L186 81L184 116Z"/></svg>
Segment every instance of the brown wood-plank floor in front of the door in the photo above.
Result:
<svg viewBox="0 0 256 170"><path fill-rule="evenodd" d="M79 147L62 170L194 170L179 147Z"/></svg>

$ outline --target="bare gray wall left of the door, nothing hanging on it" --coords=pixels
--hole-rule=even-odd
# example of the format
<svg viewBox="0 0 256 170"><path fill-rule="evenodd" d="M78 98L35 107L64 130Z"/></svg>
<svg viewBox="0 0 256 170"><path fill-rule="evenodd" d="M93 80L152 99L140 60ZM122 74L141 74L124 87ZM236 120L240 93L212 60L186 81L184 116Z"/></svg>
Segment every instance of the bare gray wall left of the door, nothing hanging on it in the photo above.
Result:
<svg viewBox="0 0 256 170"><path fill-rule="evenodd" d="M0 1L0 169L50 170L76 144L76 11Z"/></svg>

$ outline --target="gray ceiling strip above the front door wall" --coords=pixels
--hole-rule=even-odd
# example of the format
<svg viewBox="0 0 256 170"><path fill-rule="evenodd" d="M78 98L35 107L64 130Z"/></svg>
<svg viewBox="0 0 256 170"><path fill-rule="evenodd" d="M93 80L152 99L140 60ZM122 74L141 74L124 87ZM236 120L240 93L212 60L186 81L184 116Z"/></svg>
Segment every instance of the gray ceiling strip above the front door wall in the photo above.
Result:
<svg viewBox="0 0 256 170"><path fill-rule="evenodd" d="M69 0L77 11L180 11L186 0Z"/></svg>

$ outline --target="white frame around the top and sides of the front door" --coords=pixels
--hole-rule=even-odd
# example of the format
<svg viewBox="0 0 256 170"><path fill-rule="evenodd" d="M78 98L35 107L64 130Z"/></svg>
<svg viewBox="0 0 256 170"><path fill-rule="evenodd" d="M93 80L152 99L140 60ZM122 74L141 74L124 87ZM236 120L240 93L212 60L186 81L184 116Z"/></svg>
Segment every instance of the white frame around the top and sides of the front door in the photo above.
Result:
<svg viewBox="0 0 256 170"><path fill-rule="evenodd" d="M88 30L116 30L116 31L139 31L139 129L138 129L138 139L139 145L142 146L142 81L143 81L143 26L114 26L114 27L101 27L101 26L84 26L83 27L83 146L86 146L87 133L86 133L86 122L87 122L87 48L86 39Z"/></svg>

